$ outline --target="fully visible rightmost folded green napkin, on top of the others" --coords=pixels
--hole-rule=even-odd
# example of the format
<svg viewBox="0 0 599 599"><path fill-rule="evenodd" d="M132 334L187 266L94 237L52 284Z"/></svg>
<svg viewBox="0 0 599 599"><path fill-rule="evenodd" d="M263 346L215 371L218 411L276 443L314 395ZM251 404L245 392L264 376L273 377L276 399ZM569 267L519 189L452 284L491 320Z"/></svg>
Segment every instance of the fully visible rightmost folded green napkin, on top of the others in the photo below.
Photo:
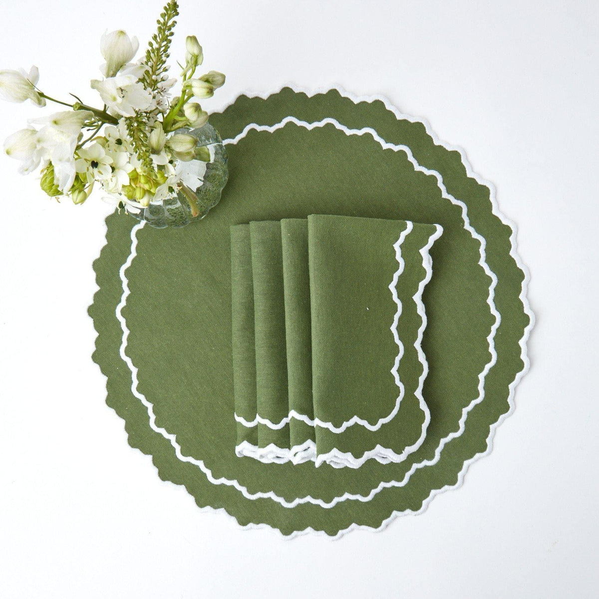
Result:
<svg viewBox="0 0 599 599"><path fill-rule="evenodd" d="M422 292L442 231L308 216L316 465L400 462L422 444L430 420Z"/></svg>

